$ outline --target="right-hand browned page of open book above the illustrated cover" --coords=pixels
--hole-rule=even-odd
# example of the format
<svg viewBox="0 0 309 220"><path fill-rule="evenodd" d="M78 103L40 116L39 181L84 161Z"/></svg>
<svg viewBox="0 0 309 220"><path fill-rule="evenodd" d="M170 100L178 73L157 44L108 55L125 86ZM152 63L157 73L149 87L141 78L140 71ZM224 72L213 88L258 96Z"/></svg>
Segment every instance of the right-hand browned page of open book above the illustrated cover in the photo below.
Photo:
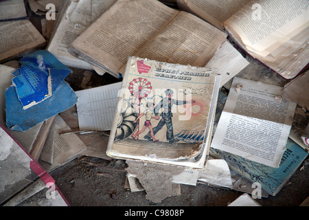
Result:
<svg viewBox="0 0 309 220"><path fill-rule="evenodd" d="M205 67L227 34L193 14L180 12L137 56L155 61Z"/></svg>

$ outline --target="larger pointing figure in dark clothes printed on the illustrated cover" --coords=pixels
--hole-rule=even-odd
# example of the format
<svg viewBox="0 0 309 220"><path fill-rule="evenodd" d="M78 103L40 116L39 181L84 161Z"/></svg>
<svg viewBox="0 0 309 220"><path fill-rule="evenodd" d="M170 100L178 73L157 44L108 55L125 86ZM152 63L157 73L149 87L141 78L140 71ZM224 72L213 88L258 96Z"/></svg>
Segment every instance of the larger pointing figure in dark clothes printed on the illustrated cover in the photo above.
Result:
<svg viewBox="0 0 309 220"><path fill-rule="evenodd" d="M161 120L159 121L159 123L157 124L157 126L155 126L153 128L153 135L156 135L156 133L158 131L160 131L162 129L162 127L164 125L166 125L166 140L168 140L168 142L170 144L177 142L178 140L174 139L174 131L173 131L173 124L172 124L172 106L173 104L179 105L179 104L187 104L187 103L194 103L195 100L188 100L188 101L183 101L183 100L175 100L174 98L172 98L174 92L172 91L172 89L166 89L165 90L165 98L163 98L161 100L161 102L159 102L159 104L157 104L157 106L155 107L155 119L159 120L159 110L161 108L163 108L163 112L161 113ZM147 135L144 136L145 139L147 140L151 140L150 137L150 133L148 132Z"/></svg>

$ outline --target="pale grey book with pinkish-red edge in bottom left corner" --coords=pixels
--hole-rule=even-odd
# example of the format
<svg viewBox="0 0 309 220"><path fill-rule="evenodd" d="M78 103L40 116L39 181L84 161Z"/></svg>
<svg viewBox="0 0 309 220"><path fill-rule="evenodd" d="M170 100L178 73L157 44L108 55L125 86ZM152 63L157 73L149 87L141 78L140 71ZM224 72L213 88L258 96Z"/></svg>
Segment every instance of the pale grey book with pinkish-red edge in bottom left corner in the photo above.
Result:
<svg viewBox="0 0 309 220"><path fill-rule="evenodd" d="M1 124L0 145L1 206L18 206L40 191L45 191L44 206L69 206L52 176Z"/></svg>

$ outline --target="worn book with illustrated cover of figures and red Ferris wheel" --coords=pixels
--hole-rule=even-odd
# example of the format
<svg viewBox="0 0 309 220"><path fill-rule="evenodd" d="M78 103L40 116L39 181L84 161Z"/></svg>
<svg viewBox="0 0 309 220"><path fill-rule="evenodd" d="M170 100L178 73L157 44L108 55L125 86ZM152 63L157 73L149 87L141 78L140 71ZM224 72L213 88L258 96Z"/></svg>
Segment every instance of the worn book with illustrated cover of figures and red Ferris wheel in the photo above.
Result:
<svg viewBox="0 0 309 220"><path fill-rule="evenodd" d="M131 56L107 155L204 168L220 75L215 69Z"/></svg>

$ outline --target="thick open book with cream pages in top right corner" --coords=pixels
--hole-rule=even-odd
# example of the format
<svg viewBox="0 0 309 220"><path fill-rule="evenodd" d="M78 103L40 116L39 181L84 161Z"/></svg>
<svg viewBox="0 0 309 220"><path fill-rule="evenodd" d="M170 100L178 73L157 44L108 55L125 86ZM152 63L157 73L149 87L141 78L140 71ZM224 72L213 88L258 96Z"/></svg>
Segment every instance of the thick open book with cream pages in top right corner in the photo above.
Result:
<svg viewBox="0 0 309 220"><path fill-rule="evenodd" d="M177 3L179 8L226 30L243 50L284 78L294 78L308 65L306 0L178 0Z"/></svg>

